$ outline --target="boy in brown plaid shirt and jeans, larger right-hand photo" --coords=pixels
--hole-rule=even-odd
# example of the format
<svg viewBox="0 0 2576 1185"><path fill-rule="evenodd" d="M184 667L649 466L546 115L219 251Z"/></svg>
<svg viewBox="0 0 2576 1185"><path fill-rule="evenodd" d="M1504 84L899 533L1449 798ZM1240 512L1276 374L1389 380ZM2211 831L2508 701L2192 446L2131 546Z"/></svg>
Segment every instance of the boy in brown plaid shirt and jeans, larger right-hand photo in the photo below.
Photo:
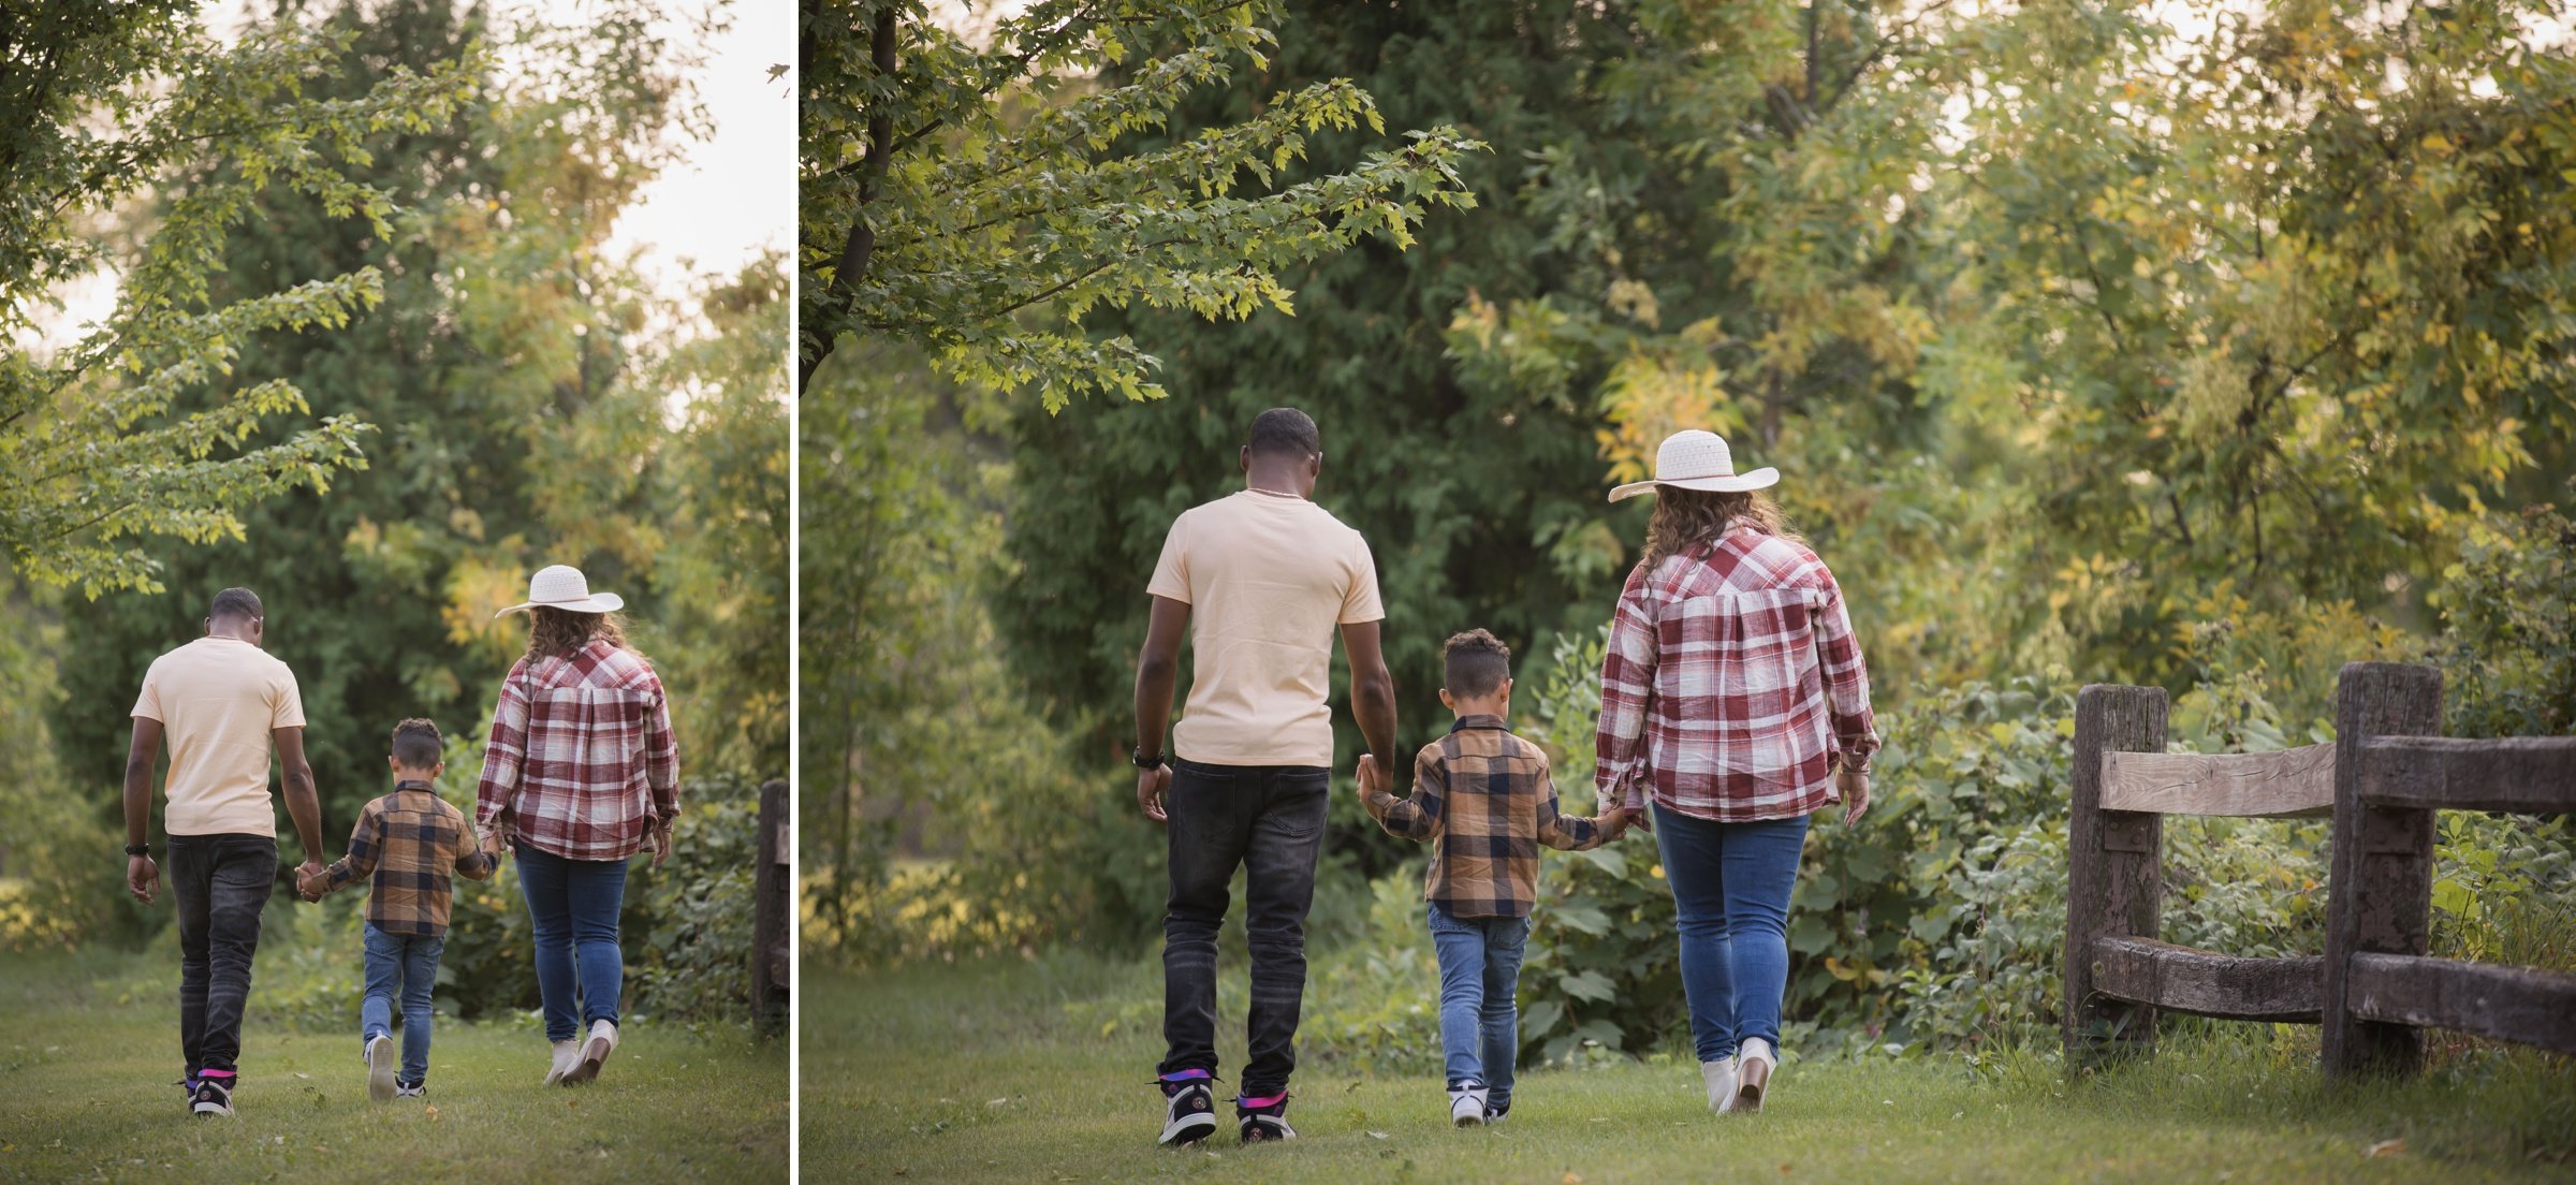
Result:
<svg viewBox="0 0 2576 1185"><path fill-rule="evenodd" d="M1360 786L1368 814L1388 835L1432 842L1422 896L1440 953L1440 1051L1450 1123L1466 1128L1512 1110L1520 953L1538 896L1538 845L1600 848L1628 822L1625 814L1582 819L1556 809L1548 755L1504 724L1512 714L1510 647L1471 629L1448 639L1443 662L1440 703L1458 724L1414 757L1412 799L1370 791L1370 778Z"/></svg>

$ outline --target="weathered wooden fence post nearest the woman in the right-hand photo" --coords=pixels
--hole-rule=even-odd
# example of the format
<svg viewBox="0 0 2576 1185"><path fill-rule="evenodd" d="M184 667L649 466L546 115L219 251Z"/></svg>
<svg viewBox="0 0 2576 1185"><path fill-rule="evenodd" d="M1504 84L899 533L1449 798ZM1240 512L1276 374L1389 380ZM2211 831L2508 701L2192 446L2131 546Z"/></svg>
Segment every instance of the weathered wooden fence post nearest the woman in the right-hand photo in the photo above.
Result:
<svg viewBox="0 0 2576 1185"><path fill-rule="evenodd" d="M2164 819L2102 809L2105 752L2164 752L2164 688L2076 693L2074 811L2066 824L2066 1064L2084 1069L2156 1041L2156 1010L2094 992L2094 938L2156 938Z"/></svg>

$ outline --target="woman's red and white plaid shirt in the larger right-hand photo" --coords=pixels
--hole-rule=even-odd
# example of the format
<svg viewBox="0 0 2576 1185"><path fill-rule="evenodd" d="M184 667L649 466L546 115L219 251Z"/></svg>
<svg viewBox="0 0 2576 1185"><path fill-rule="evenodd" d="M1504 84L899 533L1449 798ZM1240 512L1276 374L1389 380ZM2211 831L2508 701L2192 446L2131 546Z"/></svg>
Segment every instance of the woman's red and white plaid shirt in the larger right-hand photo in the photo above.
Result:
<svg viewBox="0 0 2576 1185"><path fill-rule="evenodd" d="M1631 572L1602 654L1600 801L1698 819L1814 814L1878 750L1842 587L1749 526Z"/></svg>

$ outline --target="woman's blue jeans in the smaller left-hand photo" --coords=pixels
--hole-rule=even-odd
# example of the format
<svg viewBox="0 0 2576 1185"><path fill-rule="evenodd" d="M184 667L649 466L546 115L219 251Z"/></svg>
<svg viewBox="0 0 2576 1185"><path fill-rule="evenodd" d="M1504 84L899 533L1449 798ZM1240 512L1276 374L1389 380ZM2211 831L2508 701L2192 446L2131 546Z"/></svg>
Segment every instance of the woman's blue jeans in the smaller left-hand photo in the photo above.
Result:
<svg viewBox="0 0 2576 1185"><path fill-rule="evenodd" d="M546 1005L546 1041L572 1041L592 1020L618 1023L626 953L618 909L626 904L626 860L567 860L515 848L518 886L536 927L536 994Z"/></svg>

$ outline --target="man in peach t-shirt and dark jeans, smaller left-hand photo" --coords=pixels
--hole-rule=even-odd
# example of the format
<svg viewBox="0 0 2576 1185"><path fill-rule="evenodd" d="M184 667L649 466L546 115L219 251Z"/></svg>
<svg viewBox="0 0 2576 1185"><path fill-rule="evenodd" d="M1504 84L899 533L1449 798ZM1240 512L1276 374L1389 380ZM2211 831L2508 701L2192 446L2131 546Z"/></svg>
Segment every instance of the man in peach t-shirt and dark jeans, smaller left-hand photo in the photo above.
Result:
<svg viewBox="0 0 2576 1185"><path fill-rule="evenodd" d="M304 842L299 871L322 871L322 804L304 763L304 698L296 675L260 649L265 631L255 592L216 592L206 636L152 659L126 750L126 886L152 904L160 894L160 866L144 840L152 763L170 742L162 830L170 835L170 899L178 902L178 1028L188 1059L180 1085L196 1115L232 1115L240 1082L250 958L260 951L260 909L278 878L270 744L286 768L286 811Z"/></svg>

